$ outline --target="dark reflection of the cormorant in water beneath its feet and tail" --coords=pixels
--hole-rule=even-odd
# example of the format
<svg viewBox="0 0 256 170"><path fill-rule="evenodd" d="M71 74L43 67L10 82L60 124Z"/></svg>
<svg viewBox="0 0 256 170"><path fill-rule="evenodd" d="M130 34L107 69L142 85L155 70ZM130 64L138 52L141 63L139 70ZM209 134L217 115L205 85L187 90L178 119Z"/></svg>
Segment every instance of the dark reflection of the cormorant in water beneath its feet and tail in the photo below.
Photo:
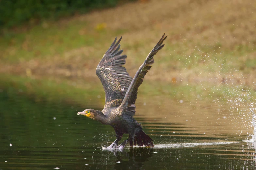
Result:
<svg viewBox="0 0 256 170"><path fill-rule="evenodd" d="M130 149L107 149L103 151L112 152L116 156L116 165L114 169L133 169L142 167L153 156L153 148L132 147ZM125 166L125 167L124 167Z"/></svg>

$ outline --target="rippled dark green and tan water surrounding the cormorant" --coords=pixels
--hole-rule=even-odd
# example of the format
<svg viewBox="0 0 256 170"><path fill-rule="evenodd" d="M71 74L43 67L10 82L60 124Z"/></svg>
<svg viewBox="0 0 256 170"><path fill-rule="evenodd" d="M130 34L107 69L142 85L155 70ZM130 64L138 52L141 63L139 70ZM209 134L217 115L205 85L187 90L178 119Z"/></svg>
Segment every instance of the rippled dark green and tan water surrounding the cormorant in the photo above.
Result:
<svg viewBox="0 0 256 170"><path fill-rule="evenodd" d="M112 127L77 116L86 106L5 89L0 93L0 169L256 169L255 143L243 142L247 133L235 124L238 119L229 118L228 106L137 101L136 119L155 147L120 152L104 149L115 140Z"/></svg>

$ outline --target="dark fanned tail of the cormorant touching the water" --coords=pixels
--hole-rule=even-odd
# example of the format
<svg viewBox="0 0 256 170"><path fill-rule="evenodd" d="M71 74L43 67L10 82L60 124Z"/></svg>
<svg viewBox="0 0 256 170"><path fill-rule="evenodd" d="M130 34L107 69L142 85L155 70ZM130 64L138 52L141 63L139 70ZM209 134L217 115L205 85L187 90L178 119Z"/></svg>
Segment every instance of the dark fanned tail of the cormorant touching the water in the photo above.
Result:
<svg viewBox="0 0 256 170"><path fill-rule="evenodd" d="M146 147L154 147L153 140L144 132L140 131L135 134L134 141L130 141L130 146L146 146Z"/></svg>

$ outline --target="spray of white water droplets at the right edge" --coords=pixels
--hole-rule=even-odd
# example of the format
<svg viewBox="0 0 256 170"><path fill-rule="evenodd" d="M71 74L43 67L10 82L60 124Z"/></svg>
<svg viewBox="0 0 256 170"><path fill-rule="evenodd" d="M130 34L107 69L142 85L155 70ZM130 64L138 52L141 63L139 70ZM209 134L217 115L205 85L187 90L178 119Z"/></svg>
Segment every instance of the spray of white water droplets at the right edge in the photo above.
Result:
<svg viewBox="0 0 256 170"><path fill-rule="evenodd" d="M212 56L214 58L214 56ZM217 61L217 62L216 62ZM256 142L256 114L254 110L256 109L256 102L251 94L250 85L246 81L246 75L241 73L239 69L231 66L230 59L223 57L222 63L218 63L218 60L214 61L214 65L219 65L215 72L218 74L217 77L222 77L221 86L219 90L223 94L224 101L227 102L229 108L229 119L232 121L234 127L239 125L237 129L237 135L247 134L246 142ZM227 70L230 70L227 72ZM253 86L255 85L252 82ZM222 103L222 99L215 98L213 102ZM221 104L220 104L221 105ZM251 133L251 130L253 133Z"/></svg>

